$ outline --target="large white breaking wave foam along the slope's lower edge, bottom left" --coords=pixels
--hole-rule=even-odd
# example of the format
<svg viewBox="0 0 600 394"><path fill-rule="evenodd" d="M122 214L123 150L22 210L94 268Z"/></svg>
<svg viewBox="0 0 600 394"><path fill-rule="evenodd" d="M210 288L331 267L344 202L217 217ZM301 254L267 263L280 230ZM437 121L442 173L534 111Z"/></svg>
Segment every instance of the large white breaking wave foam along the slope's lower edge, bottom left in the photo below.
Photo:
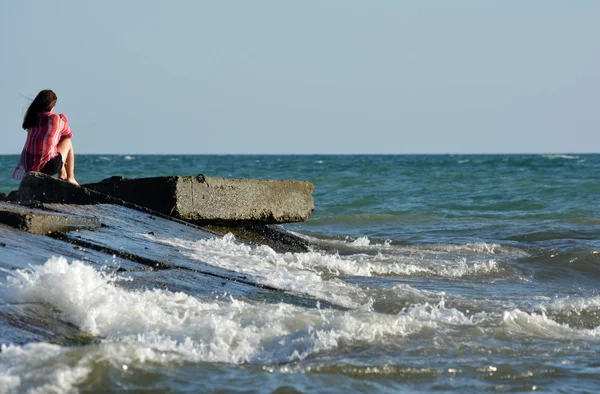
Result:
<svg viewBox="0 0 600 394"><path fill-rule="evenodd" d="M4 345L0 383L6 392L21 391L22 381L37 392L71 391L98 360L113 368L183 362L269 365L350 343L403 337L438 324L472 324L443 303L415 305L389 315L130 290L110 274L64 258L16 271L1 285L12 301L45 303L62 320L103 338L80 353L44 343Z"/></svg>

